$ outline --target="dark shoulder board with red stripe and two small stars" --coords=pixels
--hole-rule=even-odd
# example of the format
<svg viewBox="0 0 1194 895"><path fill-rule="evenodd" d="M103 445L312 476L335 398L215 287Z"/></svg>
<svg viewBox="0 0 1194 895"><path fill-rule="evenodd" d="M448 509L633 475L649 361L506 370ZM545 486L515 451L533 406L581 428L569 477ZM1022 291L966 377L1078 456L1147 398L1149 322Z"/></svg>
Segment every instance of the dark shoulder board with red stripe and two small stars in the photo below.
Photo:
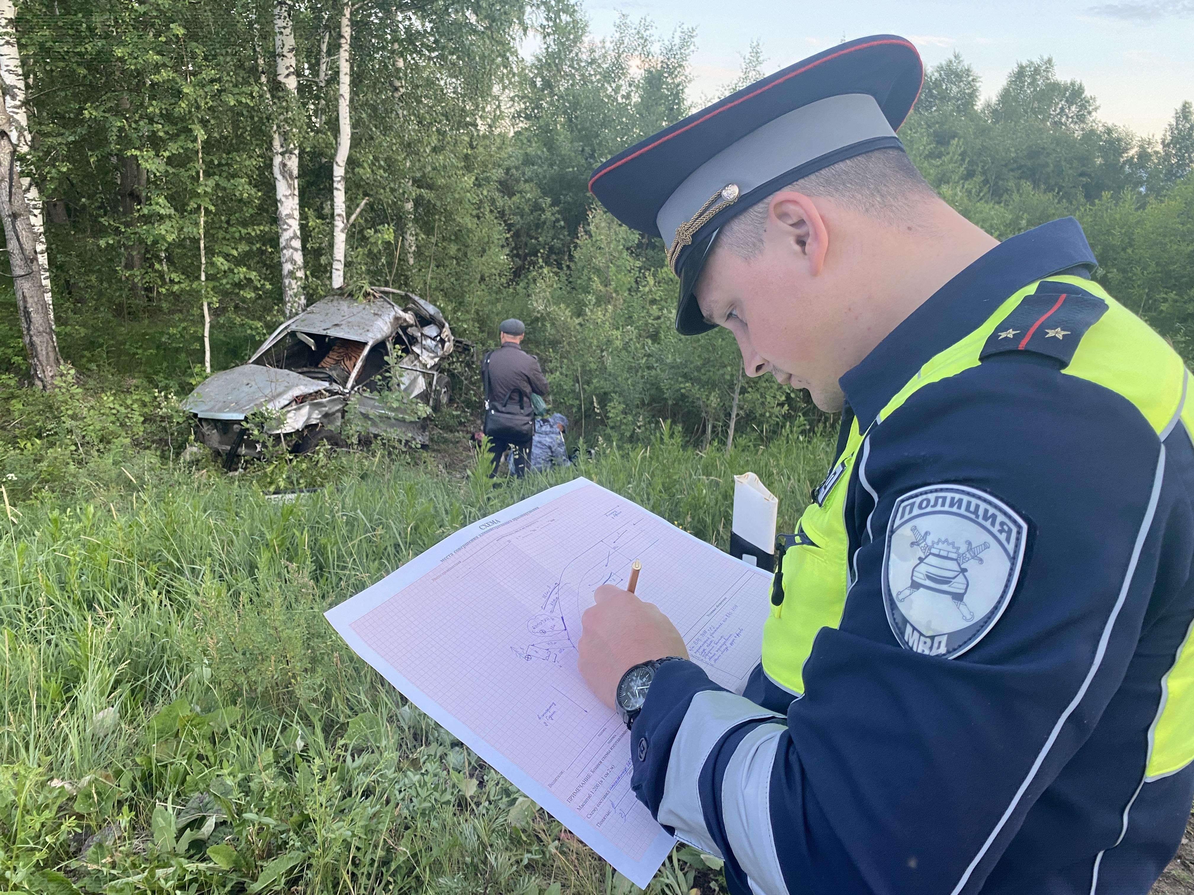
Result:
<svg viewBox="0 0 1194 895"><path fill-rule="evenodd" d="M1003 319L983 346L980 360L1029 351L1069 366L1087 331L1107 311L1107 302L1078 286L1042 282Z"/></svg>

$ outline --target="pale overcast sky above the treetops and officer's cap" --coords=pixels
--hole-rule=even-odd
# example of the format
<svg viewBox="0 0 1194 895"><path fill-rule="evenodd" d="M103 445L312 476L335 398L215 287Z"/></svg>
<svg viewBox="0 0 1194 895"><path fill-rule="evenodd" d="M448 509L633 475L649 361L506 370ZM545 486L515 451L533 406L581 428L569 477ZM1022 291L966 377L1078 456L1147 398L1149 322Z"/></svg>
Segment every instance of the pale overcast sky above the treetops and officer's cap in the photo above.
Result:
<svg viewBox="0 0 1194 895"><path fill-rule="evenodd" d="M693 97L715 93L759 38L764 72L783 68L843 37L910 38L925 66L954 50L995 93L1016 62L1052 56L1063 79L1077 78L1100 116L1139 134L1161 135L1174 109L1194 100L1194 0L584 0L592 30L614 31L620 12L650 18L661 32L696 27Z"/></svg>

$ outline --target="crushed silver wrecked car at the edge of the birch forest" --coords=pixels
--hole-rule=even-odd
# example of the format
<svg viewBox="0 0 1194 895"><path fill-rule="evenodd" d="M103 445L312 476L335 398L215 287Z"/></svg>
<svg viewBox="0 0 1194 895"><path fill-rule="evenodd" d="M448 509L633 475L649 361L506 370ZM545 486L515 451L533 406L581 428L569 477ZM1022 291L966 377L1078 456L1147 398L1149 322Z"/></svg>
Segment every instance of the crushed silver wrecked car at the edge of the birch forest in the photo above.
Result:
<svg viewBox="0 0 1194 895"><path fill-rule="evenodd" d="M448 402L439 366L454 347L443 314L417 295L380 286L362 298L332 295L275 329L248 363L202 382L183 407L229 469L263 455L263 433L296 453L343 444L346 413L357 431L426 446L425 414Z"/></svg>

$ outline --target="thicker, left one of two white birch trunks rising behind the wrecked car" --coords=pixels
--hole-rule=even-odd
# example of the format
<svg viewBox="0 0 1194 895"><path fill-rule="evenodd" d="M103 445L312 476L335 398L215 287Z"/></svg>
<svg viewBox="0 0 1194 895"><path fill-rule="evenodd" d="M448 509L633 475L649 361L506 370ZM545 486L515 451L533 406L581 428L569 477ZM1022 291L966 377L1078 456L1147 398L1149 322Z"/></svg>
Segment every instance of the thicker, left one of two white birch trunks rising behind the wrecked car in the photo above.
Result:
<svg viewBox="0 0 1194 895"><path fill-rule="evenodd" d="M0 0L4 2L4 0ZM285 101L273 117L273 187L278 197L278 249L282 257L282 300L287 316L307 307L303 282L307 272L298 229L298 146L294 138L294 110L298 105L298 72L295 62L295 29L289 0L273 6L273 48L277 81ZM264 78L264 72L263 72Z"/></svg>

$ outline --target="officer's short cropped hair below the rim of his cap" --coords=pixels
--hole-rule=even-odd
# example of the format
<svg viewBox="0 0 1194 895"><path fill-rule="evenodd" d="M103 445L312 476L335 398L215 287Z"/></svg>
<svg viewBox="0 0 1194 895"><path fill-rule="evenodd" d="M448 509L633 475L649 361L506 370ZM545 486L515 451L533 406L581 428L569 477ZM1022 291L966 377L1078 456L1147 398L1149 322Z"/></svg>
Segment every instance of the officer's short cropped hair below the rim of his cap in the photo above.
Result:
<svg viewBox="0 0 1194 895"><path fill-rule="evenodd" d="M901 149L876 149L855 155L775 192L784 190L823 196L885 223L904 221L909 202L923 202L937 196ZM771 196L728 221L718 234L718 245L746 260L762 252Z"/></svg>

